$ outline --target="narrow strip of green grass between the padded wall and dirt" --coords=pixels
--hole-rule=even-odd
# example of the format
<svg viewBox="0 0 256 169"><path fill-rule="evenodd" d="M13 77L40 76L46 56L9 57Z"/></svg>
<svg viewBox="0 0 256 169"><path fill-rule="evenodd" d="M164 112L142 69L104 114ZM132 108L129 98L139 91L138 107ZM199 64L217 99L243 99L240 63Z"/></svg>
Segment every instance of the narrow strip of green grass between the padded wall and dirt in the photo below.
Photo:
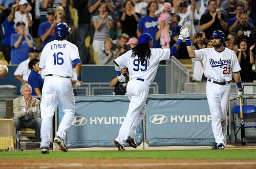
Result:
<svg viewBox="0 0 256 169"><path fill-rule="evenodd" d="M256 149L226 150L126 150L126 151L40 151L0 152L0 159L86 159L86 158L125 158L125 159L221 159L221 160L256 160Z"/></svg>

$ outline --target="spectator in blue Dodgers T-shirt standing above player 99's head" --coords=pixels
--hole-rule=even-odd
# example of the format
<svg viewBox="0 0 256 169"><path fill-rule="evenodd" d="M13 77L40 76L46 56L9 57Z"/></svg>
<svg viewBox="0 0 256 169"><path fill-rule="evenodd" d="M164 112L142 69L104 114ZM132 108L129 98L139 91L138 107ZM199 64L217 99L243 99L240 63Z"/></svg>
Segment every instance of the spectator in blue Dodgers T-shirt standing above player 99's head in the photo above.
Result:
<svg viewBox="0 0 256 169"><path fill-rule="evenodd" d="M151 34L153 37L153 47L161 48L160 41L156 39L156 33L158 32L158 17L155 16L155 12L158 10L158 5L155 1L148 3L146 8L146 15L140 18L137 26L137 37L142 33Z"/></svg>

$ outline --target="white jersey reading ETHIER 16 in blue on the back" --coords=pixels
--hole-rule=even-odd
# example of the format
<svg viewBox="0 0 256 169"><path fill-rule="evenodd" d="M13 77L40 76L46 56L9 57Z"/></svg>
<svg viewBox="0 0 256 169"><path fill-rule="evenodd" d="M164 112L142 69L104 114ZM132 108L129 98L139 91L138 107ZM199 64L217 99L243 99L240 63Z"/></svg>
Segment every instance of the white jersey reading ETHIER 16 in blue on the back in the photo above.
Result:
<svg viewBox="0 0 256 169"><path fill-rule="evenodd" d="M72 61L79 58L76 45L67 40L51 41L42 49L39 67L45 74L72 77Z"/></svg>

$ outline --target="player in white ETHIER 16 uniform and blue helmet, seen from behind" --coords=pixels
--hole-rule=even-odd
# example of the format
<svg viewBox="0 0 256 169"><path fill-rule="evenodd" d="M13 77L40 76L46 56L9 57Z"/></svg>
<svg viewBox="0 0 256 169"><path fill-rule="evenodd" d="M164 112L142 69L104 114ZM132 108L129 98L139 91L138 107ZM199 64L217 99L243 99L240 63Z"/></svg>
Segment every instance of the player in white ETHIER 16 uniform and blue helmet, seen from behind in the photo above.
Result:
<svg viewBox="0 0 256 169"><path fill-rule="evenodd" d="M46 44L41 53L40 68L45 68L45 82L42 88L41 110L41 153L49 154L51 126L58 102L62 105L64 115L59 124L54 142L63 152L68 151L65 144L66 132L75 114L75 99L71 84L72 64L77 73L76 84L82 86L82 64L78 48L67 41L70 28L67 23L58 23L55 27L56 40Z"/></svg>

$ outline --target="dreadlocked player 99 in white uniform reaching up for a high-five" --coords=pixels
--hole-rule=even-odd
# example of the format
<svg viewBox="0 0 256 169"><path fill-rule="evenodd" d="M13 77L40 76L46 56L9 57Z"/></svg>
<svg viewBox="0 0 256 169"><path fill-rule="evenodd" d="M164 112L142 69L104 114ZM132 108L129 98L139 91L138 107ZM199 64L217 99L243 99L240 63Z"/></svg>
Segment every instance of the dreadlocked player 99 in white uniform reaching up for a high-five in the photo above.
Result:
<svg viewBox="0 0 256 169"><path fill-rule="evenodd" d="M160 61L168 60L171 55L176 54L187 31L187 27L182 27L178 41L169 49L152 48L152 36L148 33L141 34L137 46L114 60L120 82L125 80L121 69L127 67L130 72L130 80L126 86L126 93L130 100L129 109L114 142L118 150L125 150L125 142L133 148L137 147L136 129L145 115L148 91L151 82L155 79L158 65Z"/></svg>

